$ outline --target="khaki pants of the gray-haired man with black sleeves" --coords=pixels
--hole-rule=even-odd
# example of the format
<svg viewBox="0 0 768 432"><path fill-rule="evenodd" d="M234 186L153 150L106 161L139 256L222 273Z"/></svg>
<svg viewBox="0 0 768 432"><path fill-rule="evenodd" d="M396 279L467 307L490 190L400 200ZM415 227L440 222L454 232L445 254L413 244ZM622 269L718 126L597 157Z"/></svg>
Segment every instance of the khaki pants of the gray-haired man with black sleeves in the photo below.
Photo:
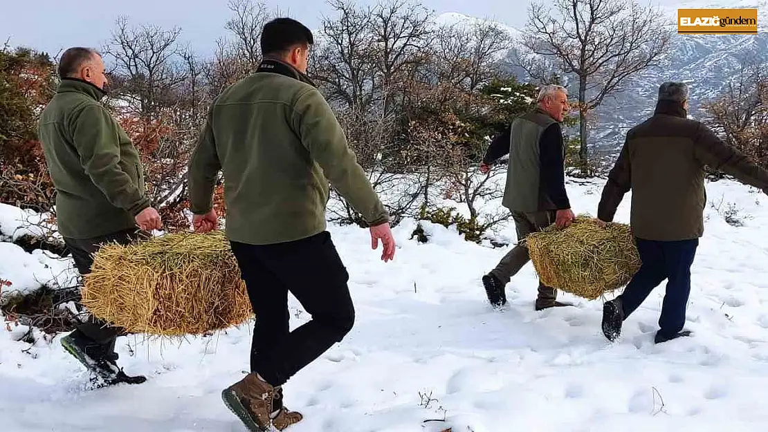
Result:
<svg viewBox="0 0 768 432"><path fill-rule="evenodd" d="M534 213L512 212L512 219L515 220L515 228L518 232L518 244L498 262L496 268L491 271L492 275L502 281L502 284L508 284L512 276L516 275L531 260L531 257L528 256L528 248L520 244L521 240L525 239L525 236L531 232L550 226L554 223L556 214L557 212L554 210ZM537 305L552 303L557 295L556 289L542 284L541 281L538 282Z"/></svg>

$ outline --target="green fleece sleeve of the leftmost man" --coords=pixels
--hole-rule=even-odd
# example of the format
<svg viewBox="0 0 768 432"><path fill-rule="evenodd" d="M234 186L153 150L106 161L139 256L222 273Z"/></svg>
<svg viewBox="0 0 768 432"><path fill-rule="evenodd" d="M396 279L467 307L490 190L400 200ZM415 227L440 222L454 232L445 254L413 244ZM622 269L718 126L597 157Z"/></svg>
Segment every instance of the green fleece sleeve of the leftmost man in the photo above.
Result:
<svg viewBox="0 0 768 432"><path fill-rule="evenodd" d="M144 190L120 167L118 127L104 107L82 108L72 118L71 131L83 170L112 205L133 216L151 205Z"/></svg>

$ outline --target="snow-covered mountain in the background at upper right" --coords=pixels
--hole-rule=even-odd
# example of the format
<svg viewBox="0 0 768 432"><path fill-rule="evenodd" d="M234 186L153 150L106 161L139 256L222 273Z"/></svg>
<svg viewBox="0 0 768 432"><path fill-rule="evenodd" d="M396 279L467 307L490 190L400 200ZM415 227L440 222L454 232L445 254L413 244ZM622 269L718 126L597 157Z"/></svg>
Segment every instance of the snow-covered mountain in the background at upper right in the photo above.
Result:
<svg viewBox="0 0 768 432"><path fill-rule="evenodd" d="M678 8L757 8L757 35L678 35ZM723 86L737 76L742 64L768 64L768 0L696 0L674 6L659 6L667 16L667 29L673 32L670 45L658 68L647 69L624 81L620 91L607 97L597 110L595 127L590 130L591 147L614 153L624 140L624 134L653 113L659 84L664 81L685 81L690 85L692 100L690 115L701 118L706 113L700 104L717 96ZM439 21L471 22L478 18L449 13ZM521 29L505 26L513 38ZM521 76L521 71L511 71ZM569 87L576 94L577 87Z"/></svg>

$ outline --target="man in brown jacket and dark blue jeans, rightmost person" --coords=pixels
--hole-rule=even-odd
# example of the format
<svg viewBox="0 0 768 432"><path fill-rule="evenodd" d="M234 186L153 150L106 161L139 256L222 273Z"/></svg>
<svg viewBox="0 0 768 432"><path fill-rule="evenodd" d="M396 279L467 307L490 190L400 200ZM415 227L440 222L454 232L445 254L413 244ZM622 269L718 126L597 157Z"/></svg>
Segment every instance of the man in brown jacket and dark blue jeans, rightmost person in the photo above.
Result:
<svg viewBox="0 0 768 432"><path fill-rule="evenodd" d="M690 335L683 325L690 266L703 234L705 166L768 194L768 171L700 122L687 119L687 109L686 84L661 84L653 117L627 132L603 190L598 218L604 222L613 220L624 194L632 190L631 227L643 262L624 293L603 307L602 329L610 341L664 279L667 291L654 340L660 343Z"/></svg>

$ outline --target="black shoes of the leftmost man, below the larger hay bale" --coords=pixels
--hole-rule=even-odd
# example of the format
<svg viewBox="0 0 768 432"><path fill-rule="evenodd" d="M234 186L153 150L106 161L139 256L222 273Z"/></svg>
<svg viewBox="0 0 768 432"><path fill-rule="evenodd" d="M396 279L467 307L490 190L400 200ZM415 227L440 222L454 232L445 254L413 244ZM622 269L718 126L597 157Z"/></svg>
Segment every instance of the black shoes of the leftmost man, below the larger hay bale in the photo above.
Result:
<svg viewBox="0 0 768 432"><path fill-rule="evenodd" d="M84 338L78 335L77 331L72 331L69 335L61 338L61 346L74 358L77 358L88 371L101 378L104 384L141 384L147 381L147 378L141 375L132 377L125 374L115 363L117 355L109 346Z"/></svg>

